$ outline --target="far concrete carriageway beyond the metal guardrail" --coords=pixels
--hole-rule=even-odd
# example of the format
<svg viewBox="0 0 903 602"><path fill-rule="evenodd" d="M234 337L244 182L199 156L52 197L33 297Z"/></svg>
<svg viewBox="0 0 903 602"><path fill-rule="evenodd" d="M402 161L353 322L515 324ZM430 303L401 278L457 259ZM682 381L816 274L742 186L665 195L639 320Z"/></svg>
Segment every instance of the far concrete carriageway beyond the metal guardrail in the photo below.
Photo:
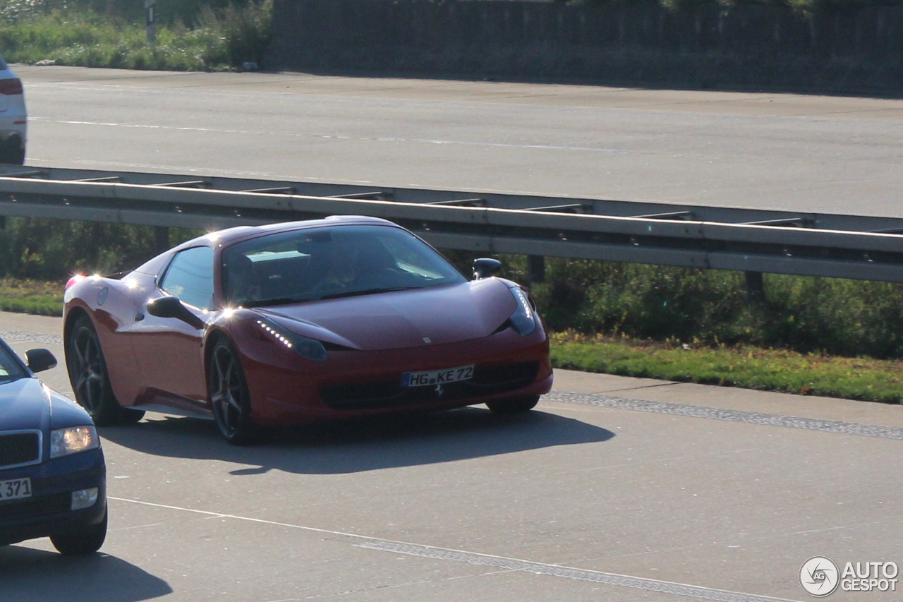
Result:
<svg viewBox="0 0 903 602"><path fill-rule="evenodd" d="M903 100L16 66L29 165L903 215Z"/></svg>

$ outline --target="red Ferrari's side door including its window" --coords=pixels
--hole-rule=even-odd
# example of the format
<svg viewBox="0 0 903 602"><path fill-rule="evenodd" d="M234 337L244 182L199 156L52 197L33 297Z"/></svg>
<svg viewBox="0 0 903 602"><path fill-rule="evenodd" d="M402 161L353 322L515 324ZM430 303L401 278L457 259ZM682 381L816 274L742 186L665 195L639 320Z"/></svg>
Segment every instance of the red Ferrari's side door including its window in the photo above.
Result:
<svg viewBox="0 0 903 602"><path fill-rule="evenodd" d="M213 249L192 247L176 253L148 300L161 296L179 297L192 314L206 320L213 303ZM146 307L140 319L136 317L131 338L145 403L206 408L203 332L178 318L151 315Z"/></svg>

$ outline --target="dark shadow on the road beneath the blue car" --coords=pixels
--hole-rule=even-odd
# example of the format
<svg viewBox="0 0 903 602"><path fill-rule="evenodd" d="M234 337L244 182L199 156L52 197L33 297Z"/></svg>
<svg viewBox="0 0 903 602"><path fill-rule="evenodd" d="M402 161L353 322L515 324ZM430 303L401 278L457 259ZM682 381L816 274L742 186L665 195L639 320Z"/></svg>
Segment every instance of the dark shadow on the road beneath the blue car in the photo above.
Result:
<svg viewBox="0 0 903 602"><path fill-rule="evenodd" d="M172 593L166 581L108 554L68 557L0 547L0 598L15 602L138 602Z"/></svg>

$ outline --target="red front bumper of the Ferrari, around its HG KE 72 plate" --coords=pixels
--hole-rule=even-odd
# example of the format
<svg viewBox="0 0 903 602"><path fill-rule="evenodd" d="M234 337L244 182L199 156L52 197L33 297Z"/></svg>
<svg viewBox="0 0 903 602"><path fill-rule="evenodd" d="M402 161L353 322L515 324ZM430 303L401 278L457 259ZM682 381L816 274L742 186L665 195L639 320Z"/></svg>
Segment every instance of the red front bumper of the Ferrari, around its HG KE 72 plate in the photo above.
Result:
<svg viewBox="0 0 903 602"><path fill-rule="evenodd" d="M552 387L549 343L542 328L417 348L330 351L325 362L286 353L281 345L237 342L252 416L261 425L297 425L389 412L459 408L508 397L541 395ZM251 343L247 341L246 343ZM441 388L401 386L404 372L474 364L471 381Z"/></svg>

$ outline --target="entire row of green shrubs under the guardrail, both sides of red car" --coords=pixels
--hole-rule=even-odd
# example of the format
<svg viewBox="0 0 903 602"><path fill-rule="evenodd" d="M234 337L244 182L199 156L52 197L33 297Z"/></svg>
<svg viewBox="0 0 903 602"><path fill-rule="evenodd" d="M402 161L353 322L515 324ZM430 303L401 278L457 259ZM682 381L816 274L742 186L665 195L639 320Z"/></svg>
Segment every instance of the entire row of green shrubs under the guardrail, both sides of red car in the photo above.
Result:
<svg viewBox="0 0 903 602"><path fill-rule="evenodd" d="M170 229L169 243L199 234ZM0 276L59 281L75 271L112 273L150 259L153 246L154 229L146 226L7 218ZM478 256L446 255L468 275ZM528 285L555 332L903 358L903 285L766 274L766 299L753 303L740 272L549 258L545 282L529 284L525 257L498 259L499 276Z"/></svg>

